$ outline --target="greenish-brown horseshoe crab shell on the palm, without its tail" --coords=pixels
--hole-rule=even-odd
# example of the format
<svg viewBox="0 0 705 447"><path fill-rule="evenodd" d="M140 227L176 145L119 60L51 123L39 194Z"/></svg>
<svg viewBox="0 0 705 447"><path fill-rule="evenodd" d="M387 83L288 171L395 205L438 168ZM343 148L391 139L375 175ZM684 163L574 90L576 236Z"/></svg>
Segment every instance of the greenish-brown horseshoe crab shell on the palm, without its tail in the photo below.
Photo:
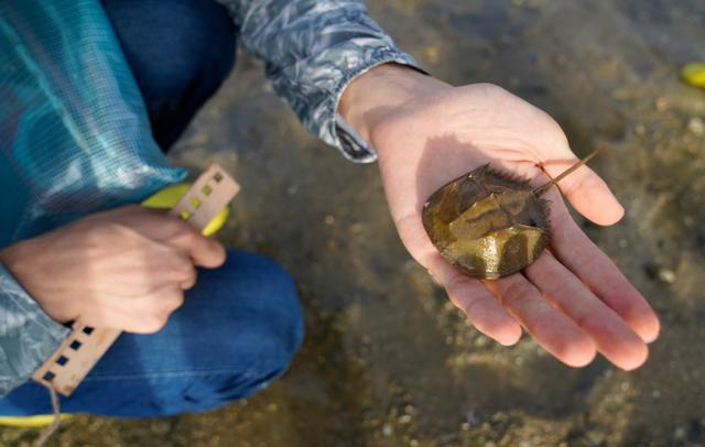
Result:
<svg viewBox="0 0 705 447"><path fill-rule="evenodd" d="M448 262L495 280L524 269L549 246L549 205L528 181L485 165L436 190L423 225Z"/></svg>

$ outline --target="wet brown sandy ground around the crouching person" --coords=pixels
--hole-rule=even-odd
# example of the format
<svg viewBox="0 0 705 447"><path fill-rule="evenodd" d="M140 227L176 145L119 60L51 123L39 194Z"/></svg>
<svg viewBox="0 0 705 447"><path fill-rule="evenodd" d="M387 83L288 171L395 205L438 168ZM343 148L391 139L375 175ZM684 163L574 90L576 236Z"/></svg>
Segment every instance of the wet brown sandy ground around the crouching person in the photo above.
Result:
<svg viewBox="0 0 705 447"><path fill-rule="evenodd" d="M76 417L74 446L705 445L705 61L702 0L387 0L372 15L434 75L490 81L550 112L626 207L578 219L662 321L641 369L564 367L529 337L469 327L402 248L376 165L303 131L245 55L175 150L242 184L221 233L296 280L307 337L290 371L220 410L148 421ZM325 190L326 194L322 194ZM34 430L0 429L28 444Z"/></svg>

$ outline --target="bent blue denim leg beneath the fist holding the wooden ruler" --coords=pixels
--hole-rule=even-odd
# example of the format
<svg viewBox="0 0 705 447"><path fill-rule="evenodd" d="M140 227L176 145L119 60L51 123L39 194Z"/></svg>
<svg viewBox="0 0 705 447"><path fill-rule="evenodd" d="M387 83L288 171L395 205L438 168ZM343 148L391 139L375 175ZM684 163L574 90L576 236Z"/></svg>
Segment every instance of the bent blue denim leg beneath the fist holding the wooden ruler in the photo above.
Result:
<svg viewBox="0 0 705 447"><path fill-rule="evenodd" d="M296 290L272 261L228 251L200 269L184 305L156 334L122 334L70 397L65 413L148 417L203 411L247 397L281 374L303 337ZM2 415L51 413L28 382L0 400Z"/></svg>

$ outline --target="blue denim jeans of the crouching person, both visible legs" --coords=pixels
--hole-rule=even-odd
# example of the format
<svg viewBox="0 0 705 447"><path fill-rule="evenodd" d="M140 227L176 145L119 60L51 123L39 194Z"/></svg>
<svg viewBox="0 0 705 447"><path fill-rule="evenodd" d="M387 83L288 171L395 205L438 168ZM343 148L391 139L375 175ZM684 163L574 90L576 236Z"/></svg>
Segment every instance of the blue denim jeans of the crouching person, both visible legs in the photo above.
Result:
<svg viewBox="0 0 705 447"><path fill-rule="evenodd" d="M166 150L220 86L235 57L225 9L205 0L104 0ZM66 413L149 417L203 411L261 390L303 338L296 290L273 262L228 251L153 335L122 334L70 397ZM51 413L46 390L25 383L0 415Z"/></svg>

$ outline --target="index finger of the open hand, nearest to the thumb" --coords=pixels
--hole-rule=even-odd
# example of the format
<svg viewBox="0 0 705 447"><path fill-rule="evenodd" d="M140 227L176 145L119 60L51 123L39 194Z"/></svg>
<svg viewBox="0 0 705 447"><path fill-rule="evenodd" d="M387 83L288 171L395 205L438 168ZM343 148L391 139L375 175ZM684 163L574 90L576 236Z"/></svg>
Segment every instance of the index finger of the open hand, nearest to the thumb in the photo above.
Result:
<svg viewBox="0 0 705 447"><path fill-rule="evenodd" d="M646 342L659 336L659 318L644 297L615 263L597 248L571 218L557 194L549 196L551 244L555 257L605 304L611 307Z"/></svg>

